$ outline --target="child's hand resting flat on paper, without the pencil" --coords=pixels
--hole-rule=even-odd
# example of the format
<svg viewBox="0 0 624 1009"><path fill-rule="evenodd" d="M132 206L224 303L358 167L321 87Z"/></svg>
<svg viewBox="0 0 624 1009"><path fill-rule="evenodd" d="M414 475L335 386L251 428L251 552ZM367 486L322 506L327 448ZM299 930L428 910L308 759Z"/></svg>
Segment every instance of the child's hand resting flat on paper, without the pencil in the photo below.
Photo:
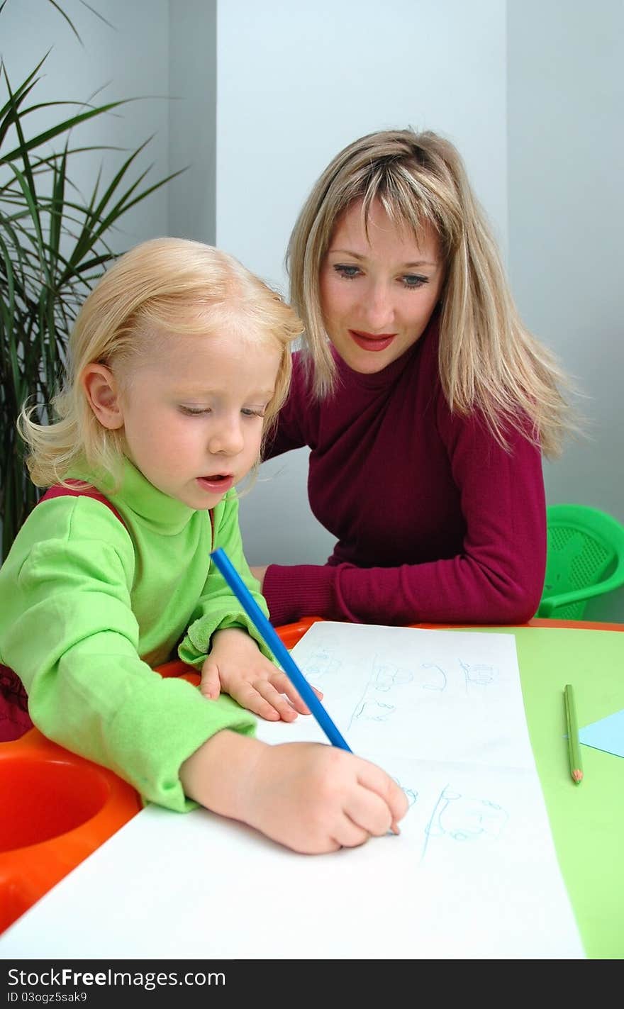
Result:
<svg viewBox="0 0 624 1009"><path fill-rule="evenodd" d="M212 636L201 677L204 697L216 700L224 690L242 707L268 721L294 721L298 711L310 713L286 673L265 658L253 639L238 628L217 631ZM316 687L312 689L317 697L323 696Z"/></svg>

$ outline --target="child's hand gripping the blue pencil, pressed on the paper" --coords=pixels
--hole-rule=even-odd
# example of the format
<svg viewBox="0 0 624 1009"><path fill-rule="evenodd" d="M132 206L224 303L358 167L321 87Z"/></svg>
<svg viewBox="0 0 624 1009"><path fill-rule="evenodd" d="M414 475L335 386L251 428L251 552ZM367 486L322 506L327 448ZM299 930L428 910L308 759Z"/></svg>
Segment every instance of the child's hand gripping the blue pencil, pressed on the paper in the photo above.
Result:
<svg viewBox="0 0 624 1009"><path fill-rule="evenodd" d="M229 730L182 765L185 793L305 855L355 848L405 816L403 790L376 764L323 743L269 746Z"/></svg>

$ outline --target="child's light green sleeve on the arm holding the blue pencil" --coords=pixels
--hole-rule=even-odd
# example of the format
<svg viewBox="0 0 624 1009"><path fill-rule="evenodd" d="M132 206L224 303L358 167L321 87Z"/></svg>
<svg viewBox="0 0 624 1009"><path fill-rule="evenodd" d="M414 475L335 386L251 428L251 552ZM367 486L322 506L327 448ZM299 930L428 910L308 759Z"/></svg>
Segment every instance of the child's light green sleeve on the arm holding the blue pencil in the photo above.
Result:
<svg viewBox="0 0 624 1009"><path fill-rule="evenodd" d="M20 552L16 543L2 571L1 661L21 677L45 736L145 799L186 811L196 803L179 779L184 761L221 728L252 733L255 719L229 697L207 701L141 661L129 537L112 515L94 521L108 526L37 542L37 511L28 519L31 545Z"/></svg>

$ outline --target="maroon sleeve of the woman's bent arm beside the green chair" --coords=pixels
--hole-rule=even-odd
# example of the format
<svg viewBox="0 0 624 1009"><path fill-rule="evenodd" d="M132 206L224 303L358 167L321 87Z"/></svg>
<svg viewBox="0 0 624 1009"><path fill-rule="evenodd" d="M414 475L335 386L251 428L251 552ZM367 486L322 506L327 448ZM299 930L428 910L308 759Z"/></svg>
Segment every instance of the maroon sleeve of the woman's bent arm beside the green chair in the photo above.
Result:
<svg viewBox="0 0 624 1009"><path fill-rule="evenodd" d="M523 624L546 562L539 449L521 431L499 446L478 417L442 419L465 522L455 557L395 568L272 564L263 590L275 625L302 616L354 623Z"/></svg>

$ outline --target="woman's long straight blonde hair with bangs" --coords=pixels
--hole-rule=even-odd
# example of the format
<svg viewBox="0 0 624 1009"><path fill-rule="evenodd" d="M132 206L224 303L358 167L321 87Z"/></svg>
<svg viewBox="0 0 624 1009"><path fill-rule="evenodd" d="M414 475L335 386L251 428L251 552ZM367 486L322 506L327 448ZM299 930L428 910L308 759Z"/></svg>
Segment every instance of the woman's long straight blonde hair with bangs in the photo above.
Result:
<svg viewBox="0 0 624 1009"><path fill-rule="evenodd" d="M461 157L430 131L384 130L360 137L328 164L293 229L287 267L291 301L304 321L304 351L313 389L334 385L335 364L323 323L319 272L338 216L361 200L365 222L374 200L391 220L422 237L437 234L445 281L440 306L439 374L452 411L483 417L507 445L521 422L545 455L556 455L569 385L555 357L522 325L496 243L471 189Z"/></svg>

